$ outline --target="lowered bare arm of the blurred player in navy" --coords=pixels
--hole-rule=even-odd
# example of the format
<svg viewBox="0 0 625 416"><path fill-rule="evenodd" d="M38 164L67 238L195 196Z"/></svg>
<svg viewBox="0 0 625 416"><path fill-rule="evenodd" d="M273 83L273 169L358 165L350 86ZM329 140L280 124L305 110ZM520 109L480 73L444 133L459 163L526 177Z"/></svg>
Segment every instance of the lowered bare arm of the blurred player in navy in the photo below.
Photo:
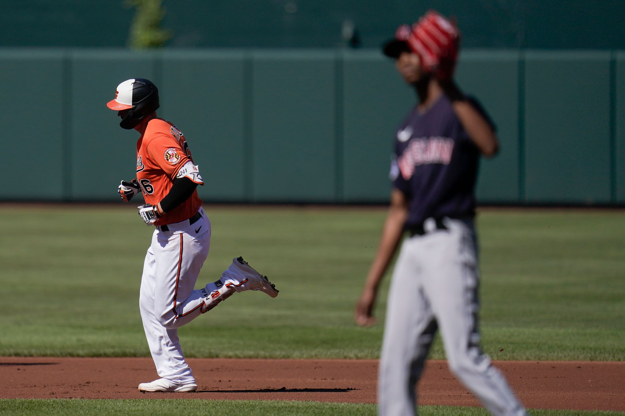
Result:
<svg viewBox="0 0 625 416"><path fill-rule="evenodd" d="M399 245L407 216L406 196L402 191L394 188L391 193L391 207L386 216L380 245L377 248L376 257L371 263L362 295L356 305L356 323L361 326L370 326L375 323L372 312L376 302L377 288L389 263L391 263L397 245Z"/></svg>

